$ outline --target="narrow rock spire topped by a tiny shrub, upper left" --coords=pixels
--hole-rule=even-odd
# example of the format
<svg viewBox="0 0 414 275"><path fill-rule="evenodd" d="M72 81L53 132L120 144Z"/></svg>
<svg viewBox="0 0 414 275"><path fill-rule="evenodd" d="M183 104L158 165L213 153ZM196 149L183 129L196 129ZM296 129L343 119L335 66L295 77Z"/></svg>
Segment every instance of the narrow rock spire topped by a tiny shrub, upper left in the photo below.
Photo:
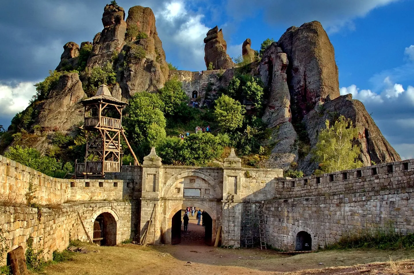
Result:
<svg viewBox="0 0 414 275"><path fill-rule="evenodd" d="M94 37L94 46L87 68L103 66L111 60L113 52L119 53L124 45L127 24L125 11L117 5L106 5L102 14L103 30Z"/></svg>

